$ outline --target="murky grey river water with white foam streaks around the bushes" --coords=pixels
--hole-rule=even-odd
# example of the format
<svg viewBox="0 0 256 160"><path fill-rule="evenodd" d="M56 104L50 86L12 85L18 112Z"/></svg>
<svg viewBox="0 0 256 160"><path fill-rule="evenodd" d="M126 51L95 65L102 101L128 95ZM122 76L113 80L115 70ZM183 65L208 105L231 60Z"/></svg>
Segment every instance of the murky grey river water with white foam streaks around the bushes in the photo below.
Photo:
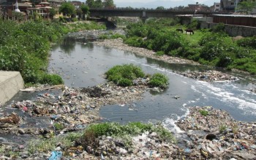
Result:
<svg viewBox="0 0 256 160"><path fill-rule="evenodd" d="M203 71L195 65L167 64L117 49L99 47L86 39L64 39L53 46L48 70L58 73L68 87L92 87L106 82L103 75L114 65L135 64L145 73L164 73L169 87L164 92L146 92L142 100L121 106L106 105L100 110L105 121L156 122L176 129L174 122L188 113L189 106L213 106L227 111L239 121L256 121L255 87L246 76L233 82L205 82L189 79L176 71ZM242 78L241 78L242 77ZM180 98L173 98L179 96Z"/></svg>

